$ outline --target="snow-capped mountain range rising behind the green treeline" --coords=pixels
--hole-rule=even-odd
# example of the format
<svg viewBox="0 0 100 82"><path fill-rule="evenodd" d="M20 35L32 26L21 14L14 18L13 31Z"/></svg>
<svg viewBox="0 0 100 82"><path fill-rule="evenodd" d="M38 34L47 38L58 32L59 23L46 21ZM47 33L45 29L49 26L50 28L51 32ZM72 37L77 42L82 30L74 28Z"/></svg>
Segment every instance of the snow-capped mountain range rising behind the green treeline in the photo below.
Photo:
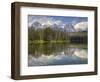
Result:
<svg viewBox="0 0 100 82"><path fill-rule="evenodd" d="M33 22L31 27L34 28L35 30L40 29L40 28L42 29L42 28L50 27L53 30L66 31L66 32L77 32L77 29L75 29L74 25L72 25L72 24L63 24L63 25L61 25L61 24L53 23L51 25L51 24L41 24L38 21L35 21L35 22Z"/></svg>

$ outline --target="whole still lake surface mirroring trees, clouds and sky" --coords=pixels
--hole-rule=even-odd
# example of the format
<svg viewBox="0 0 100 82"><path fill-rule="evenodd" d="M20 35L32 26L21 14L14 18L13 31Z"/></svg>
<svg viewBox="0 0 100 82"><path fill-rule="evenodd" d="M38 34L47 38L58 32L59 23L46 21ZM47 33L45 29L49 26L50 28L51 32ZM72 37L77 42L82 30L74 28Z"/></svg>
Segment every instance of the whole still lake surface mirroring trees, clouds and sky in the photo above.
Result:
<svg viewBox="0 0 100 82"><path fill-rule="evenodd" d="M28 66L87 64L86 45L30 44Z"/></svg>

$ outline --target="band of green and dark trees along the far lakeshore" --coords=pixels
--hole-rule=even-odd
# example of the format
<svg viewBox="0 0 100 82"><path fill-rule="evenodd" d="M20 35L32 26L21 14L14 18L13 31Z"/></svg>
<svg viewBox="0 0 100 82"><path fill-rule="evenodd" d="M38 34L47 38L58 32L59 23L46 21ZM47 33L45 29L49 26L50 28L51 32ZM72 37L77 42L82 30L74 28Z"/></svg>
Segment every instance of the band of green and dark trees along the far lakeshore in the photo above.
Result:
<svg viewBox="0 0 100 82"><path fill-rule="evenodd" d="M87 31L67 32L51 27L35 29L28 28L29 43L87 43Z"/></svg>

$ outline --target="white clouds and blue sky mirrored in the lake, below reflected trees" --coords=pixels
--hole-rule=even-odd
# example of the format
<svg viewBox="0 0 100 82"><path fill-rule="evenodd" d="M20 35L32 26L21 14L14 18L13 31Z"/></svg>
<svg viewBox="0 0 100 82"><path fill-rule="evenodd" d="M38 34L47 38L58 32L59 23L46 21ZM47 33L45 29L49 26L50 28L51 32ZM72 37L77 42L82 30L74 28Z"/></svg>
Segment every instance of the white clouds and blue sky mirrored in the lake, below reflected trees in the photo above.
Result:
<svg viewBox="0 0 100 82"><path fill-rule="evenodd" d="M28 60L29 66L87 64L87 50L68 48L67 51L56 53L56 55L55 53L41 54L39 57L29 55Z"/></svg>

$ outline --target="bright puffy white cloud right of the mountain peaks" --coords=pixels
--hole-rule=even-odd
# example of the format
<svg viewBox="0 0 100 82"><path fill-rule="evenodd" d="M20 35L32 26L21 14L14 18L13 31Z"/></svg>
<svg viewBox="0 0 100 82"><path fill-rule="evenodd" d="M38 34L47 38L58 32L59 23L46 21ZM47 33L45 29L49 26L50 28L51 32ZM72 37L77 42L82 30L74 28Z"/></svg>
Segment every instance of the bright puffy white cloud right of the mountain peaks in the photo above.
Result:
<svg viewBox="0 0 100 82"><path fill-rule="evenodd" d="M88 30L88 22L79 22L74 25L76 31L87 31Z"/></svg>

